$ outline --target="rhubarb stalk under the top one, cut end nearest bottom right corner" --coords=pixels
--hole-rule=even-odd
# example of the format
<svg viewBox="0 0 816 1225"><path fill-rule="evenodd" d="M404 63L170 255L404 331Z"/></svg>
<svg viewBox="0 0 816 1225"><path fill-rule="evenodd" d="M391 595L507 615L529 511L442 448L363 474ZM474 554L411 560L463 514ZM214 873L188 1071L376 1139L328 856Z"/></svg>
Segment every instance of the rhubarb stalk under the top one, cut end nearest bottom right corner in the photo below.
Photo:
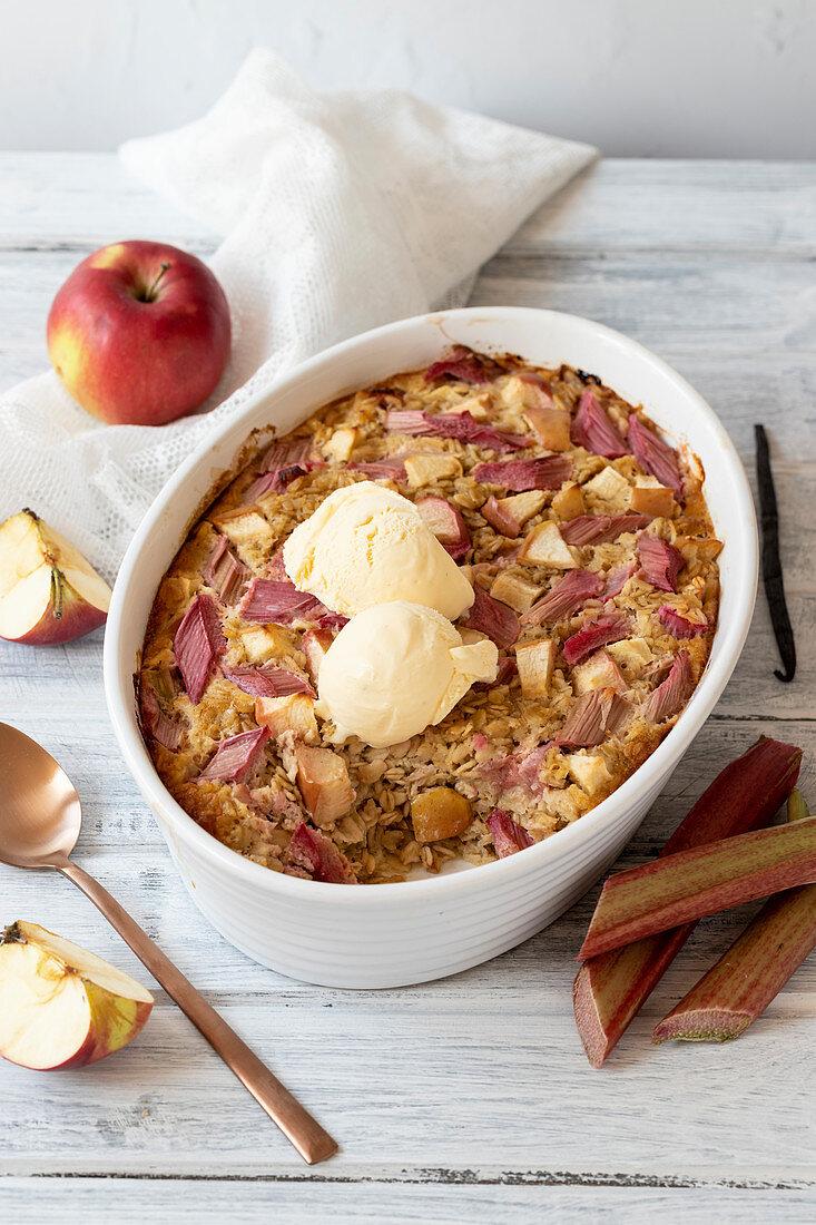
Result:
<svg viewBox="0 0 816 1225"><path fill-rule="evenodd" d="M788 820L807 816L799 791L791 791ZM652 1041L728 1042L739 1038L815 947L816 884L778 893L676 1008L654 1027Z"/></svg>

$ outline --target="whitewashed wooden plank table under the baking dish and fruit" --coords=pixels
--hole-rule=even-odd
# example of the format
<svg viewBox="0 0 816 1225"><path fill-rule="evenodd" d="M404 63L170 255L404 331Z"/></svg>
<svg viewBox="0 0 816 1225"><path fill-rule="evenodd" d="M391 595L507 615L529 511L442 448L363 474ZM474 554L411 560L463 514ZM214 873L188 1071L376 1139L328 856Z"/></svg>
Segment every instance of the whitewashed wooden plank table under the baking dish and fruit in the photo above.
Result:
<svg viewBox="0 0 816 1225"><path fill-rule="evenodd" d="M0 158L0 390L45 365L45 314L70 270L121 238L205 256L214 246L113 157ZM473 303L560 307L651 345L714 405L751 474L754 421L771 432L798 677L773 677L760 595L728 691L621 862L652 856L761 731L805 748L816 801L816 165L605 162L490 262ZM0 479L12 462L0 457ZM143 1034L102 1065L0 1067L4 1223L816 1215L816 959L730 1046L649 1044L744 913L700 925L595 1072L570 997L595 891L457 978L386 992L304 986L236 953L184 893L114 742L100 633L67 648L0 643L0 719L78 786L77 859L342 1144L304 1166L157 991ZM1 921L40 921L147 979L67 881L0 869L0 899Z"/></svg>

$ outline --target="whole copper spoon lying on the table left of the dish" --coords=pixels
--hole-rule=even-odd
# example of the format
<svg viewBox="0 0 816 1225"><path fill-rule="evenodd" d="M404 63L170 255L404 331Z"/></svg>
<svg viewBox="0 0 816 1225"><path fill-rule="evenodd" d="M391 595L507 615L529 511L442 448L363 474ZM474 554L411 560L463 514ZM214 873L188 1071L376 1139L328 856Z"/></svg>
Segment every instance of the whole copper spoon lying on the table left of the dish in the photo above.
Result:
<svg viewBox="0 0 816 1225"><path fill-rule="evenodd" d="M82 826L76 788L50 753L16 728L0 723L0 862L12 867L55 867L102 911L157 982L175 1000L227 1067L270 1118L312 1165L337 1152L328 1132L304 1110L257 1055L175 968L107 889L72 864Z"/></svg>

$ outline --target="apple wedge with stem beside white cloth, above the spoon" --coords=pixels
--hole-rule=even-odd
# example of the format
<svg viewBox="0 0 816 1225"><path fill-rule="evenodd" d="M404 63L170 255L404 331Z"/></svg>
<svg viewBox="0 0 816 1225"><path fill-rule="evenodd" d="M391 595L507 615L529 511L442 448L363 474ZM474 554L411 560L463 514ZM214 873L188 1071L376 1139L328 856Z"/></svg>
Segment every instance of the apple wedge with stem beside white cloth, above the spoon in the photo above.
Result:
<svg viewBox="0 0 816 1225"><path fill-rule="evenodd" d="M48 646L104 625L110 588L33 511L0 524L0 638Z"/></svg>

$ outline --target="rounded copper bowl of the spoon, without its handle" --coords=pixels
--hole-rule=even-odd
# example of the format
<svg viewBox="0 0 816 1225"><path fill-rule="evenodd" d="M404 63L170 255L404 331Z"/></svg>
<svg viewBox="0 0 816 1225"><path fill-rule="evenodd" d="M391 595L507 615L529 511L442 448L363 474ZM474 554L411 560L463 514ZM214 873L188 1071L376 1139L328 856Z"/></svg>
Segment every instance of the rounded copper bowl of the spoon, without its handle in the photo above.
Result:
<svg viewBox="0 0 816 1225"><path fill-rule="evenodd" d="M76 846L82 806L62 767L36 740L0 723L0 860L61 867Z"/></svg>

